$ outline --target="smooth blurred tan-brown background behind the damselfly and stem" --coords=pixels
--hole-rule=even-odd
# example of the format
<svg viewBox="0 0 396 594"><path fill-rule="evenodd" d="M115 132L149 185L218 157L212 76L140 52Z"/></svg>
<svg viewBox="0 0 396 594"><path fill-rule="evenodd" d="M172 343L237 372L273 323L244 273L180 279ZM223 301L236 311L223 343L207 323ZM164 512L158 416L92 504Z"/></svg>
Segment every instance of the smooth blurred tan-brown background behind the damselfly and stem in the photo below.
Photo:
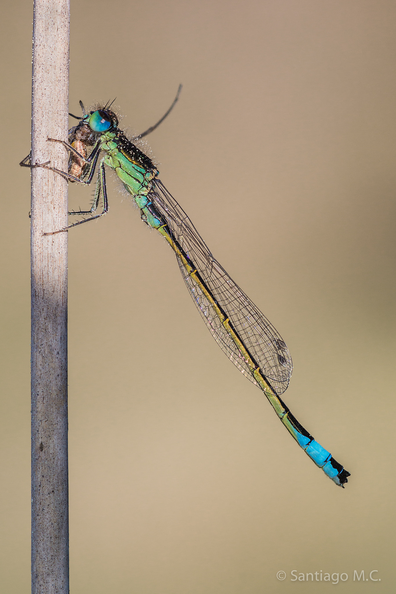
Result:
<svg viewBox="0 0 396 594"><path fill-rule="evenodd" d="M9 594L30 591L32 15L2 5ZM160 178L286 340L284 399L352 474L328 480L227 361L109 176L109 214L69 232L74 594L307 592L291 570L394 592L395 21L390 0L72 2L70 110L116 96L140 132L183 83L148 137ZM70 185L70 207L92 191Z"/></svg>

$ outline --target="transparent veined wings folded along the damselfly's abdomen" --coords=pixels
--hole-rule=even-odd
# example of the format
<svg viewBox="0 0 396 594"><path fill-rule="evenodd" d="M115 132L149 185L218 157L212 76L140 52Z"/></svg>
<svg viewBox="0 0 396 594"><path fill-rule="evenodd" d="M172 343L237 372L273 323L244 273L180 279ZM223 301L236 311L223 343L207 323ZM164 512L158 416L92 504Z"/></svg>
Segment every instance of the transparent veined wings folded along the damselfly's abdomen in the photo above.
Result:
<svg viewBox="0 0 396 594"><path fill-rule="evenodd" d="M293 364L280 334L215 260L185 211L159 179L153 181L150 198L167 221L191 265L197 268L217 304L229 317L255 364L270 380L274 391L282 394L289 385ZM202 292L199 283L189 276L182 260L177 255L176 257L188 290L214 339L237 368L256 384L248 363L221 324L213 305Z"/></svg>

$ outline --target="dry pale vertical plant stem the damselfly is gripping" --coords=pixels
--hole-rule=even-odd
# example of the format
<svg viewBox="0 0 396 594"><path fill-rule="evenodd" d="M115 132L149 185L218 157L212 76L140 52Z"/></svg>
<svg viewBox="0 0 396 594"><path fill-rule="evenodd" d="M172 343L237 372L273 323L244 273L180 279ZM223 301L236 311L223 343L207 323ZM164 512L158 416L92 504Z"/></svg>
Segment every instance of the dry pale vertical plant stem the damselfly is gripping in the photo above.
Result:
<svg viewBox="0 0 396 594"><path fill-rule="evenodd" d="M35 0L31 163L67 170L69 0ZM67 182L31 169L31 591L68 594Z"/></svg>

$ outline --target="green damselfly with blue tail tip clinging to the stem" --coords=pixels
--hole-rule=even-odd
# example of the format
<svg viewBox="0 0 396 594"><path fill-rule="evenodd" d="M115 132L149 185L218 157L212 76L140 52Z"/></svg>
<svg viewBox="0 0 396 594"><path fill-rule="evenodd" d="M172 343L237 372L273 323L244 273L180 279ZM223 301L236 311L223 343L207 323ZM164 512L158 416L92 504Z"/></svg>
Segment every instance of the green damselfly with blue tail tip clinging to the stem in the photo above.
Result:
<svg viewBox="0 0 396 594"><path fill-rule="evenodd" d="M170 109L177 99L178 96ZM70 181L89 185L99 156L104 153L99 162L92 208L69 213L85 214L88 218L55 233L97 219L107 212L106 166L115 171L140 208L142 220L156 229L175 252L188 290L217 344L233 364L261 388L278 417L311 460L335 484L344 487L350 473L313 439L280 398L289 386L293 368L286 343L213 257L183 208L159 180L159 171L150 157L132 142L159 125L170 109L156 126L129 140L118 128L118 116L110 110L110 106L97 106L87 114L82 103L81 107L83 116L74 116L80 122L71 129L69 142L55 140L64 144L70 153L68 172L49 167L47 163L31 165L28 157L21 162L24 166L47 167ZM87 146L93 147L88 157ZM102 211L94 214L100 198Z"/></svg>

